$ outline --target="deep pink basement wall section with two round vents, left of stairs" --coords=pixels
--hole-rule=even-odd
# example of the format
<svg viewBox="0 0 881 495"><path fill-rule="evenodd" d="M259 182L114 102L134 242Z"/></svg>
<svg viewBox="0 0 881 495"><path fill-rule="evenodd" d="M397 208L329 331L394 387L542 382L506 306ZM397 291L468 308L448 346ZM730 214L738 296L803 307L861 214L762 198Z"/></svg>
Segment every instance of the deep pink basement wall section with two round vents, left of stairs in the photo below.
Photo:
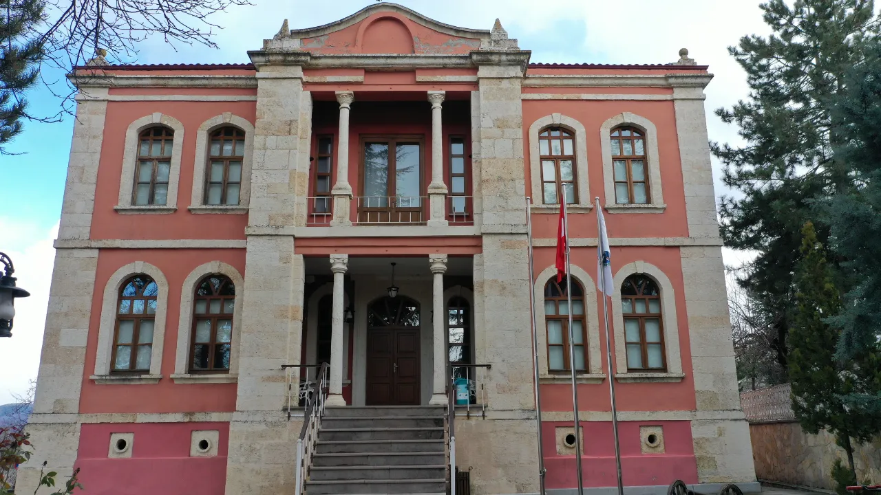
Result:
<svg viewBox="0 0 881 495"><path fill-rule="evenodd" d="M189 456L194 430L218 430L218 455ZM107 458L114 432L135 433L130 458ZM85 424L75 467L80 469L83 491L90 495L222 495L228 443L228 423Z"/></svg>

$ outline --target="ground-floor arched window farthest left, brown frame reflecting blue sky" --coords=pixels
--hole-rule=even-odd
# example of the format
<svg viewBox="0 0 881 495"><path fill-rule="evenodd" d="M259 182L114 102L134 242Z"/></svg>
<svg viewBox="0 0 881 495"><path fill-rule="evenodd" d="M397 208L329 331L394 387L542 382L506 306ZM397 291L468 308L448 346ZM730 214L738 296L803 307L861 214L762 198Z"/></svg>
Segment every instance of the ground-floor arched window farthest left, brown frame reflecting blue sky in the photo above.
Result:
<svg viewBox="0 0 881 495"><path fill-rule="evenodd" d="M159 287L144 274L122 284L116 307L113 371L149 372Z"/></svg>

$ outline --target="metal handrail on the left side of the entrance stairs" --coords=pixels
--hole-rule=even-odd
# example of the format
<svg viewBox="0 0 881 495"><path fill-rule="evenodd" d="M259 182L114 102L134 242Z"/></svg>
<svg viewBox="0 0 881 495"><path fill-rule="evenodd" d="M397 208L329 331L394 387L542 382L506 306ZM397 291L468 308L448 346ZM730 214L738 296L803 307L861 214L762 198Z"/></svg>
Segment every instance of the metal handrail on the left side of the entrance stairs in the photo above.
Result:
<svg viewBox="0 0 881 495"><path fill-rule="evenodd" d="M303 413L303 427L300 429L300 438L297 439L297 462L294 464L296 475L296 495L302 495L303 486L309 476L309 468L312 466L312 454L315 453L315 441L318 440L318 431L322 426L322 417L324 417L324 403L328 396L328 374L330 366L327 363L321 365L285 365L288 376L288 393L287 393L287 418L291 419L291 410L297 407L293 403L292 380L293 370L303 368L318 368L315 382L310 383L308 380L301 386L300 373L297 373L297 403L303 398L305 390L305 407Z"/></svg>

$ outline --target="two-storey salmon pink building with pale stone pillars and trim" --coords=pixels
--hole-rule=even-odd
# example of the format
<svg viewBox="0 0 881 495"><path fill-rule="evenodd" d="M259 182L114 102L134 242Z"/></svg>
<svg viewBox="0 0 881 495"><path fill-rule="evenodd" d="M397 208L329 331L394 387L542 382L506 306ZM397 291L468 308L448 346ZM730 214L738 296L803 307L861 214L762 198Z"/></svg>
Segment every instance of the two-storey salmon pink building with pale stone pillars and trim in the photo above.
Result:
<svg viewBox="0 0 881 495"><path fill-rule="evenodd" d="M29 426L52 447L22 466L21 491L47 461L80 468L96 495L293 495L323 363L328 410L394 416L454 392L453 462L478 494L539 491L538 427L546 488L574 492L570 366L586 487L616 484L610 374L626 486L758 487L706 66L687 51L529 63L498 21L466 29L384 3L326 26L285 21L248 55L99 57L71 76L78 120ZM611 363L595 198L611 240ZM571 307L554 268L561 201ZM306 464L307 493L344 492ZM404 485L381 491L416 491Z"/></svg>

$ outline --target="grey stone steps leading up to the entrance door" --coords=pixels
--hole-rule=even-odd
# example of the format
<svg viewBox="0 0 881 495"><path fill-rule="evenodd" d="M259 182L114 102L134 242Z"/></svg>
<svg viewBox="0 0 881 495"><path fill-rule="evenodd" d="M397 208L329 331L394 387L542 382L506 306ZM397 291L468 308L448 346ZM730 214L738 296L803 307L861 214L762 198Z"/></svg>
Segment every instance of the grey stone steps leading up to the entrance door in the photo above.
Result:
<svg viewBox="0 0 881 495"><path fill-rule="evenodd" d="M329 407L307 495L447 491L443 406Z"/></svg>

